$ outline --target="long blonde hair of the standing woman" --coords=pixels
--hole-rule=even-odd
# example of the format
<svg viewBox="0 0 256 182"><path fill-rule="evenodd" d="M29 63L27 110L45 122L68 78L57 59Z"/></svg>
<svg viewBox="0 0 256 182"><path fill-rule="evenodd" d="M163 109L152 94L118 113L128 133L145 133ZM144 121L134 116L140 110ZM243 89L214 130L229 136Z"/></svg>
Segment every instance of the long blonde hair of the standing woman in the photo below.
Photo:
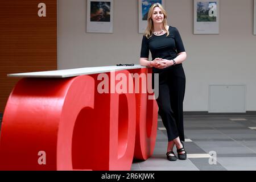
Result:
<svg viewBox="0 0 256 182"><path fill-rule="evenodd" d="M147 16L147 28L146 31L144 32L144 36L146 36L146 38L150 38L153 34L153 30L154 30L154 23L153 20L151 19L152 14L153 14L153 10L155 7L159 7L161 9L161 11L163 12L164 15L164 20L163 20L163 28L164 30L167 32L167 35L169 35L169 31L167 30L167 13L166 10L163 9L163 6L160 3L154 3L151 7L150 10L148 11L148 16Z"/></svg>

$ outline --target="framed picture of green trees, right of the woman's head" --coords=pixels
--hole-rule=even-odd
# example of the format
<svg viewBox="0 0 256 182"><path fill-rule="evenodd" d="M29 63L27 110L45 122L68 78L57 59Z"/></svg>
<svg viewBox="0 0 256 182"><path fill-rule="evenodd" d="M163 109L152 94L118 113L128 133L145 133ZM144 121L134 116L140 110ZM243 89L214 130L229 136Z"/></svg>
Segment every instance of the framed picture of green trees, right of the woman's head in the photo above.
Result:
<svg viewBox="0 0 256 182"><path fill-rule="evenodd" d="M194 34L218 34L219 0L194 0Z"/></svg>

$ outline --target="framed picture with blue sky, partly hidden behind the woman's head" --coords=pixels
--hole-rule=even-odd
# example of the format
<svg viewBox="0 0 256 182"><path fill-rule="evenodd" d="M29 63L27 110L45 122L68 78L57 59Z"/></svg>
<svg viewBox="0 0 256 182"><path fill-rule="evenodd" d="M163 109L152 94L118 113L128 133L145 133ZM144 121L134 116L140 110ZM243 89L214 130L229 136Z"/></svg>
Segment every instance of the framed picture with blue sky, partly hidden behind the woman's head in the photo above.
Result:
<svg viewBox="0 0 256 182"><path fill-rule="evenodd" d="M164 7L164 0L139 0L139 33L143 34L147 28L147 14L150 6L160 3Z"/></svg>

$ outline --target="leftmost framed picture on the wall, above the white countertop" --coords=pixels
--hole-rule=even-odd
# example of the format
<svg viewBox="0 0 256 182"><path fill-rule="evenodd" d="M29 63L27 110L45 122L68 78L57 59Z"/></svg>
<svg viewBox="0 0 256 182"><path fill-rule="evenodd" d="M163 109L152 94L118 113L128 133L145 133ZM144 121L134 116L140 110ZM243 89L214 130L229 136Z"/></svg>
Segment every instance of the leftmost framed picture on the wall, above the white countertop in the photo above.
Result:
<svg viewBox="0 0 256 182"><path fill-rule="evenodd" d="M113 33L113 0L87 0L86 32Z"/></svg>

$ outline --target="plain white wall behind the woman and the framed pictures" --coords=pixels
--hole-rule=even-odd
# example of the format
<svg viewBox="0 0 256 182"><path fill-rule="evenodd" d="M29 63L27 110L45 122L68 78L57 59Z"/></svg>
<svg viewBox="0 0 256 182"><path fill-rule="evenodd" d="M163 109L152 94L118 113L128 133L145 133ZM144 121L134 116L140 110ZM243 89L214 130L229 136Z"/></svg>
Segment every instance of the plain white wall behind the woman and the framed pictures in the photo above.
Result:
<svg viewBox="0 0 256 182"><path fill-rule="evenodd" d="M168 24L187 52L184 111L208 111L209 84L245 84L246 110L256 110L253 0L220 1L220 34L193 35L193 1L166 0ZM138 1L114 0L114 33L86 33L86 0L58 1L58 69L139 64Z"/></svg>

